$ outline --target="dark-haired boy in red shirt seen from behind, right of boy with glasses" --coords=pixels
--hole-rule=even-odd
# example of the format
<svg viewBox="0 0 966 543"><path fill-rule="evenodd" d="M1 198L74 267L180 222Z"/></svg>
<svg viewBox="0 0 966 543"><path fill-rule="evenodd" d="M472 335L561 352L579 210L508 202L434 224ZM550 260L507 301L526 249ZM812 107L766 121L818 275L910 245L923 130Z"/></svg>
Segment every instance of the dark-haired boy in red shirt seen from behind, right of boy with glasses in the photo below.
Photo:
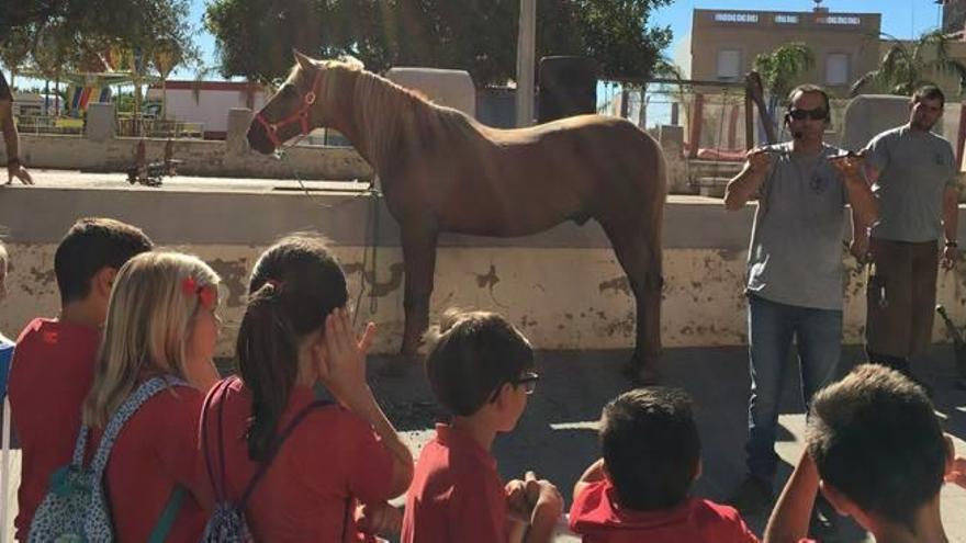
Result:
<svg viewBox="0 0 966 543"><path fill-rule="evenodd" d="M621 394L600 417L604 457L574 486L570 528L584 543L754 543L731 507L688 496L700 440L682 391Z"/></svg>

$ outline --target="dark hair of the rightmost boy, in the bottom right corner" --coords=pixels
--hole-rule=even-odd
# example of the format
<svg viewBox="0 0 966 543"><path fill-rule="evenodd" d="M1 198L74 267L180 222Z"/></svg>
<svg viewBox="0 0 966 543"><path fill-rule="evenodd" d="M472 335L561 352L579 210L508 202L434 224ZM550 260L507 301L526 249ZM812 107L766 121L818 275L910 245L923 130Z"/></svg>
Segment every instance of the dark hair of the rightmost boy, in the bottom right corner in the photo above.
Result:
<svg viewBox="0 0 966 543"><path fill-rule="evenodd" d="M912 525L942 487L946 442L932 403L895 370L860 365L819 392L807 435L822 480L892 522Z"/></svg>

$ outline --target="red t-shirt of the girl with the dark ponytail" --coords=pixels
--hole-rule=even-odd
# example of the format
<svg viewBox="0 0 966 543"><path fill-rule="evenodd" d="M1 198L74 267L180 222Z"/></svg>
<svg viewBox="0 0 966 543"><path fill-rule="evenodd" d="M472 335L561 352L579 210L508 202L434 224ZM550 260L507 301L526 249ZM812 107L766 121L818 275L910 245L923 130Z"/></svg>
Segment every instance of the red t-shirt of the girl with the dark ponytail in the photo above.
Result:
<svg viewBox="0 0 966 543"><path fill-rule="evenodd" d="M229 378L232 385L209 406L207 449L217 472L217 418L224 404L225 483L228 499L238 500L257 464L248 457L245 439L251 392ZM314 400L311 388L293 388L278 431ZM356 528L356 506L392 498L392 453L364 419L336 404L316 408L292 431L251 494L245 509L248 527L257 541L367 541ZM213 493L210 483L207 491Z"/></svg>

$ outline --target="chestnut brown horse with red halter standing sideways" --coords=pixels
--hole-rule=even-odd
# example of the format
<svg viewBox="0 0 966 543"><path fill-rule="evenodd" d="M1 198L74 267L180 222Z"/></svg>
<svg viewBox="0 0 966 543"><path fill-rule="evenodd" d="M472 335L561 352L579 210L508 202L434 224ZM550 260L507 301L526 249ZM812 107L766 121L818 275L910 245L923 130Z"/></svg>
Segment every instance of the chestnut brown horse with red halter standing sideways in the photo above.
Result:
<svg viewBox="0 0 966 543"><path fill-rule="evenodd" d="M289 77L254 116L248 144L271 154L328 127L372 166L402 236L404 358L416 355L429 324L440 233L526 236L594 218L636 302L634 350L624 372L656 382L666 165L654 138L604 115L497 129L367 71L351 57L294 55Z"/></svg>

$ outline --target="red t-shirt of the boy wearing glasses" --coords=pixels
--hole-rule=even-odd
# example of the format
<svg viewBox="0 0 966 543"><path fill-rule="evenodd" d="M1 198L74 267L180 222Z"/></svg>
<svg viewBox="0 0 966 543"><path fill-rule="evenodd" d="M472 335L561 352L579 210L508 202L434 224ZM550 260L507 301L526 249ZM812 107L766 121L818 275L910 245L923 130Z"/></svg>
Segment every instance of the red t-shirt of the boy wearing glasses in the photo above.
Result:
<svg viewBox="0 0 966 543"><path fill-rule="evenodd" d="M403 543L507 541L506 490L496 460L446 425L426 444L403 517Z"/></svg>

